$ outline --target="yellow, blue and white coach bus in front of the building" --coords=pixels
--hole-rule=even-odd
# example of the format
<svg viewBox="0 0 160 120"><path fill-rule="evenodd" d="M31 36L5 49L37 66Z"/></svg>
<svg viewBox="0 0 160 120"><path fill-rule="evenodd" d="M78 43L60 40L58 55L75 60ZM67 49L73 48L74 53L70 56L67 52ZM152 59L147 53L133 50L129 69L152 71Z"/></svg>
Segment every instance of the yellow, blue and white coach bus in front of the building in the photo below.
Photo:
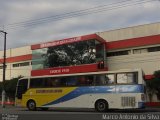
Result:
<svg viewBox="0 0 160 120"><path fill-rule="evenodd" d="M141 69L123 69L22 78L16 105L41 108L144 108L145 83Z"/></svg>

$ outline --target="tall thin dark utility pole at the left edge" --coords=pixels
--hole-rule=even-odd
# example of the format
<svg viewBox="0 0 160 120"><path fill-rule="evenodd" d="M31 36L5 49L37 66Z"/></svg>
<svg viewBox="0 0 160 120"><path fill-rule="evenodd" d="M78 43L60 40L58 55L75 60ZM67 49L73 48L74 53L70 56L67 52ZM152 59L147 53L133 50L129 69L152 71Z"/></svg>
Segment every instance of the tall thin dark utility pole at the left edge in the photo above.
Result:
<svg viewBox="0 0 160 120"><path fill-rule="evenodd" d="M5 80L6 80L6 35L7 32L1 31L4 34L4 59L3 59L3 82L2 82L2 107L5 108Z"/></svg>

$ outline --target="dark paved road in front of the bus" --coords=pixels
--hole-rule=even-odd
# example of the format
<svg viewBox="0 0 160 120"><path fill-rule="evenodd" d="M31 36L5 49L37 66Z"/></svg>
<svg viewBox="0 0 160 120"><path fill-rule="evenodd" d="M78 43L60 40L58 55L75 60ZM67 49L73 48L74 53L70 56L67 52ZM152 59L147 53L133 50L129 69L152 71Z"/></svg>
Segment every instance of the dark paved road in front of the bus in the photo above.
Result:
<svg viewBox="0 0 160 120"><path fill-rule="evenodd" d="M159 114L156 116L155 114ZM48 111L28 111L25 108L0 107L2 120L114 120L137 117L141 120L160 119L160 108L144 110L114 110L107 113L98 113L90 109L50 109ZM137 115L137 116L135 116ZM159 118L158 118L159 117ZM5 119L9 118L9 119ZM135 120L135 118L133 118Z"/></svg>

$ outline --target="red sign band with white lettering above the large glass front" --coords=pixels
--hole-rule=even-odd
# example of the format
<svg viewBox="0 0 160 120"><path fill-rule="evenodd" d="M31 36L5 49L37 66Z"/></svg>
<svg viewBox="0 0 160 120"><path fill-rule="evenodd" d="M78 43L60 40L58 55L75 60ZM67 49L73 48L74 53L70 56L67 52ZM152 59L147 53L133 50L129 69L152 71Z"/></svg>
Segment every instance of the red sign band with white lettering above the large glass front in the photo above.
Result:
<svg viewBox="0 0 160 120"><path fill-rule="evenodd" d="M41 49L41 48L48 48L52 46L64 45L64 44L85 41L85 40L90 40L90 39L96 39L103 43L105 42L105 40L99 37L97 34L90 34L90 35L85 35L85 36L73 37L73 38L68 38L68 39L62 39L62 40L56 40L52 42L32 45L31 49L35 50L35 49Z"/></svg>

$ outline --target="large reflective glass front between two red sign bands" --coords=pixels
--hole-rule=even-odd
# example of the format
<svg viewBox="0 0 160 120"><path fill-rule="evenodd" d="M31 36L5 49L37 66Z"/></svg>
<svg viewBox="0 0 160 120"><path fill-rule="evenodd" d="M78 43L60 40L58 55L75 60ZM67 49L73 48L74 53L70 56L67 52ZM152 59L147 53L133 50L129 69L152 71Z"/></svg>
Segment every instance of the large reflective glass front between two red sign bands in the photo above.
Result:
<svg viewBox="0 0 160 120"><path fill-rule="evenodd" d="M32 69L92 64L104 58L104 45L91 39L32 51Z"/></svg>

